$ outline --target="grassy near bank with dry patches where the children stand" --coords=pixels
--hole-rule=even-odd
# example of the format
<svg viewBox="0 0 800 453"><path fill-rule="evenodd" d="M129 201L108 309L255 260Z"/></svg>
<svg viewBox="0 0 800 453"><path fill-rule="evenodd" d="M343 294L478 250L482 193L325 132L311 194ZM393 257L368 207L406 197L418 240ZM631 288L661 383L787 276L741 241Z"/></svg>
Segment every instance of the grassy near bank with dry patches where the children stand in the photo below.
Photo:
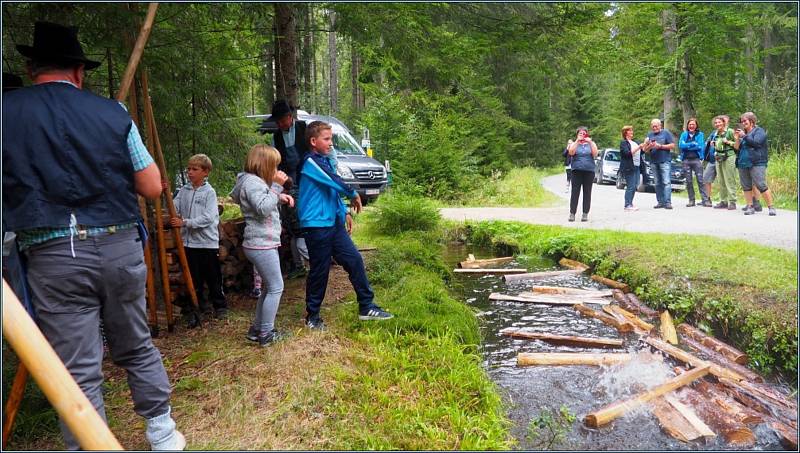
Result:
<svg viewBox="0 0 800 453"><path fill-rule="evenodd" d="M412 208L413 209L413 208ZM402 209L399 215L403 215ZM386 226L386 217L381 227ZM396 317L361 322L334 268L323 305L329 328L303 327L302 279L287 282L269 348L244 339L255 301L229 295L225 321L155 339L173 384L175 418L198 450L490 450L511 446L494 384L481 366L476 318L447 291L441 231L385 235L358 219L376 301ZM373 225L374 226L374 225ZM6 390L13 353L4 352ZM109 425L128 449L148 449L122 370L106 362ZM9 444L60 449L55 413L35 385Z"/></svg>

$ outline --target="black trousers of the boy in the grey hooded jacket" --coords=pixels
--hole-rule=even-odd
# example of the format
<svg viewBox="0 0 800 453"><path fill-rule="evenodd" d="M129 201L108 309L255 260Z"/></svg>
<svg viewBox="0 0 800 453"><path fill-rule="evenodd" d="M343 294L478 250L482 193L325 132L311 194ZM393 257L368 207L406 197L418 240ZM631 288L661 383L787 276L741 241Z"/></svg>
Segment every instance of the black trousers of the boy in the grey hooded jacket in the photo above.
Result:
<svg viewBox="0 0 800 453"><path fill-rule="evenodd" d="M222 292L222 270L219 266L219 250L191 247L184 247L184 250L186 251L186 260L189 262L189 273L192 274L192 283L197 294L197 303L200 306L200 311L205 313L212 310L203 295L203 285L208 286L208 299L215 310L228 308L225 294ZM189 307L191 307L191 303ZM189 307L184 307L181 311L186 314L191 311Z"/></svg>

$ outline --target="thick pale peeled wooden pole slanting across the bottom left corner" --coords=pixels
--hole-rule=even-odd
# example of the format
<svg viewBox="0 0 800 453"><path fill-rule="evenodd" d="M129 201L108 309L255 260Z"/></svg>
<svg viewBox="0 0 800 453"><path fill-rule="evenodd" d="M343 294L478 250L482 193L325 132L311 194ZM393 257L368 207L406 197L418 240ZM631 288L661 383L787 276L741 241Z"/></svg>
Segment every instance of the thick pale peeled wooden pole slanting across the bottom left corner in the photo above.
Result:
<svg viewBox="0 0 800 453"><path fill-rule="evenodd" d="M122 450L50 343L3 280L3 336L85 450Z"/></svg>

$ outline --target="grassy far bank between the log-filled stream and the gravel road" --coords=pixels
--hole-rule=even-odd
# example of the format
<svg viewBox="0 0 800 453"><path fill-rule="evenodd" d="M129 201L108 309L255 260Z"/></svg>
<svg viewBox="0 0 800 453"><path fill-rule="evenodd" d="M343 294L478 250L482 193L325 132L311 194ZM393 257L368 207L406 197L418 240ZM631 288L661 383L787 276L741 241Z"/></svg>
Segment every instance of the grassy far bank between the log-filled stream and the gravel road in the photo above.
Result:
<svg viewBox="0 0 800 453"><path fill-rule="evenodd" d="M797 371L797 254L746 241L576 230L516 222L465 228L471 241L567 256L625 281L648 305L704 326L764 371Z"/></svg>

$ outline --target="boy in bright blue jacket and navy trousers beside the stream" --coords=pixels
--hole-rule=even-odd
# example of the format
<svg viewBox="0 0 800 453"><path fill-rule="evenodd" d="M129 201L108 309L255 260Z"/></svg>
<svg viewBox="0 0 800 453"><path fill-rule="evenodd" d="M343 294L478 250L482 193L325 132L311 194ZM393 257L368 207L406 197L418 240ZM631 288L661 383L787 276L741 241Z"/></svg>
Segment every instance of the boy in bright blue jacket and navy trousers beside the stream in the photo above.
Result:
<svg viewBox="0 0 800 453"><path fill-rule="evenodd" d="M311 265L306 278L306 326L325 328L319 311L328 287L331 257L350 277L358 300L358 318L362 321L391 319L392 314L373 302L375 295L367 280L364 260L350 239L353 218L341 197L351 200L356 213L361 212L361 197L336 174L327 158L333 148L330 124L312 122L306 128L306 139L311 151L301 164L297 201L300 228L306 238Z"/></svg>

